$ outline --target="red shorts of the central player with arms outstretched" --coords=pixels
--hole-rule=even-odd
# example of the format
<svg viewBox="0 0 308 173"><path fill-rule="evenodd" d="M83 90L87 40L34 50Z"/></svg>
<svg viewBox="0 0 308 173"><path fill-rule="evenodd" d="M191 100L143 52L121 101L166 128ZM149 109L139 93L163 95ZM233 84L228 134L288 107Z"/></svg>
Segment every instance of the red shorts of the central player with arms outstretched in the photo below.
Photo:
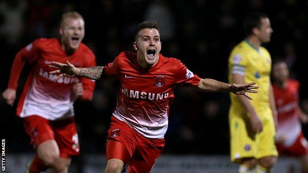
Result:
<svg viewBox="0 0 308 173"><path fill-rule="evenodd" d="M128 173L149 173L165 145L164 138L146 138L114 116L107 139L107 160L120 159L124 165L129 163Z"/></svg>

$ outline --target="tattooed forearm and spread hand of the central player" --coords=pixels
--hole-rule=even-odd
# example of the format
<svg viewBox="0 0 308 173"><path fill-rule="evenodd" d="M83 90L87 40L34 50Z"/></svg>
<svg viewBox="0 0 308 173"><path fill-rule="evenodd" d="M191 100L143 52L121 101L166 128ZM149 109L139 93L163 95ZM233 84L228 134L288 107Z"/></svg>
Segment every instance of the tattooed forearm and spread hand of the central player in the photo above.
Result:
<svg viewBox="0 0 308 173"><path fill-rule="evenodd" d="M58 80L63 76L75 76L75 75L97 80L101 78L104 69L103 66L96 66L90 68L76 68L69 61L66 61L66 64L52 62L52 65L49 65L49 67L57 68L57 70L50 71L49 73L51 74L59 72L61 73L55 78L55 80Z"/></svg>

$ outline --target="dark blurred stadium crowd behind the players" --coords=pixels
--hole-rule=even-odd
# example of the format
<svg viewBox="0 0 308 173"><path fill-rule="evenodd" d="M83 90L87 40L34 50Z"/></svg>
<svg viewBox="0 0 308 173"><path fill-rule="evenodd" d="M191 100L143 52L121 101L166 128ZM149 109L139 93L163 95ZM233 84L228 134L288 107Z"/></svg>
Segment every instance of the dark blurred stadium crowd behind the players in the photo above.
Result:
<svg viewBox="0 0 308 173"><path fill-rule="evenodd" d="M61 14L76 10L85 20L87 44L103 66L121 51L131 50L136 25L157 20L161 53L176 57L202 78L227 82L231 48L244 37L243 17L251 11L268 14L273 28L268 48L272 59L284 59L301 82L301 103L308 111L308 0L0 0L0 93L7 85L17 51L39 37L59 37ZM17 96L30 68L23 70ZM82 162L87 154L104 154L117 81L97 81L93 102L75 104ZM198 93L177 88L170 110L164 154L228 155L228 93ZM6 154L32 153L30 139L14 107L0 98L0 138ZM304 126L308 137L308 126ZM78 164L77 164L78 165ZM79 164L80 165L80 164ZM82 164L81 164L82 166Z"/></svg>

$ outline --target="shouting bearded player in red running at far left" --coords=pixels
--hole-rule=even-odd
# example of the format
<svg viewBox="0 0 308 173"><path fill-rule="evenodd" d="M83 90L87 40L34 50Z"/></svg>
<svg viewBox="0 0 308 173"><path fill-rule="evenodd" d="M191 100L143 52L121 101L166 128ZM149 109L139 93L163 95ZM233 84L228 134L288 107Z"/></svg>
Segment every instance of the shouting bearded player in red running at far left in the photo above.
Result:
<svg viewBox="0 0 308 173"><path fill-rule="evenodd" d="M17 115L23 118L26 132L37 154L28 167L30 173L51 168L52 173L67 173L71 156L79 154L78 135L74 119L74 101L91 101L94 80L66 76L55 81L49 74L52 61L72 62L77 67L96 66L93 52L83 43L84 20L77 12L63 14L61 38L39 38L21 49L13 62L7 89L2 96L13 105L19 75L25 62L32 70L17 105Z"/></svg>

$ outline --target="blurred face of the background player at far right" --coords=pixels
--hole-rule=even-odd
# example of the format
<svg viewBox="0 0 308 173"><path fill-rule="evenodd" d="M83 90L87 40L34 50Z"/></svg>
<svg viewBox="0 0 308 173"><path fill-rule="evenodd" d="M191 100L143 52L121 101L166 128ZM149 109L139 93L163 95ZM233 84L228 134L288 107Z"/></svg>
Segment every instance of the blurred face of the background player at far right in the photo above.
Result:
<svg viewBox="0 0 308 173"><path fill-rule="evenodd" d="M284 62L279 62L273 66L273 78L277 82L283 82L289 77L288 66Z"/></svg>

